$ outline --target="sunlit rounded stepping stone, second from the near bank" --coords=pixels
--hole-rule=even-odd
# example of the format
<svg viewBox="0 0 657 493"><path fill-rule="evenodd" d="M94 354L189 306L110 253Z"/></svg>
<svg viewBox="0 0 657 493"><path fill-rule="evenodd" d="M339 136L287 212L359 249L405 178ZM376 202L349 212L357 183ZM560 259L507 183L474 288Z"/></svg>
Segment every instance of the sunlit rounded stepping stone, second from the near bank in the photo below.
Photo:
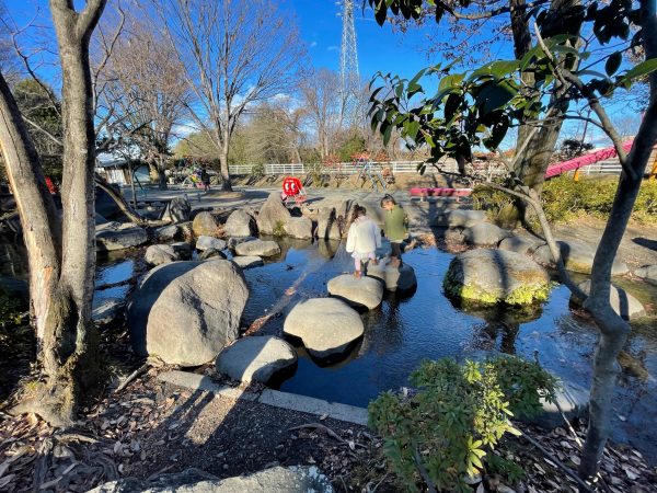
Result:
<svg viewBox="0 0 657 493"><path fill-rule="evenodd" d="M364 331L358 312L336 298L297 303L283 326L285 334L299 337L308 353L320 359L347 353Z"/></svg>

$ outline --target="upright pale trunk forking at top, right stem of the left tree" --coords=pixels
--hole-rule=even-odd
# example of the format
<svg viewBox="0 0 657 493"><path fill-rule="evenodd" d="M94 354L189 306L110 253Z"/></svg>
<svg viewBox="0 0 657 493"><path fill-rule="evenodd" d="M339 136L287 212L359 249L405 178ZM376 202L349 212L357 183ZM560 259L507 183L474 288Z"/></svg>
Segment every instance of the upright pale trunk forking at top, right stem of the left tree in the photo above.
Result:
<svg viewBox="0 0 657 493"><path fill-rule="evenodd" d="M95 270L95 131L89 41L105 0L82 12L50 0L62 72L64 181L60 274L48 294L43 365L48 382L33 411L57 425L72 423L78 404L97 389L97 339L91 322Z"/></svg>

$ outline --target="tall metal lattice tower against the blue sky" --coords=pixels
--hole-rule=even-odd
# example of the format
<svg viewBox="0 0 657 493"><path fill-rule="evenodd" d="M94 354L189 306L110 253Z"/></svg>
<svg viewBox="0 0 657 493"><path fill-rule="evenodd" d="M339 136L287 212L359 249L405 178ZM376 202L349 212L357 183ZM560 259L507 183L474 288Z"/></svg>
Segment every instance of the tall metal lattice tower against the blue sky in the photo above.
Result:
<svg viewBox="0 0 657 493"><path fill-rule="evenodd" d="M360 74L358 73L358 51L356 28L354 27L354 1L343 0L343 39L339 56L341 96L343 125L358 124Z"/></svg>

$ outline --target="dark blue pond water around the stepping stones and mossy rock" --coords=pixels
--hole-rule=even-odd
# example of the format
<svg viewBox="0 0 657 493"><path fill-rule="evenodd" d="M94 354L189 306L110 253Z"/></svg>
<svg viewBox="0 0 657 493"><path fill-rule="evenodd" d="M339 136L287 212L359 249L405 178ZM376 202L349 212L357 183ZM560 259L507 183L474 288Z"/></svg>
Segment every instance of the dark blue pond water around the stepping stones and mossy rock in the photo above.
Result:
<svg viewBox="0 0 657 493"><path fill-rule="evenodd" d="M569 291L553 289L550 299L532 313L511 309L468 311L454 307L442 291L442 278L452 254L416 249L404 255L415 268L417 290L412 296L387 294L380 308L362 313L362 342L343 362L318 365L297 347L296 372L280 390L330 401L366 406L380 392L407 386L408 375L424 358L446 356L477 358L505 352L526 358L537 354L541 364L566 381L588 387L597 330L568 307ZM284 242L277 262L244 271L251 297L244 312L247 323L274 311L262 331L280 335L285 316L301 299L327 296L326 283L353 268L351 259L338 244ZM657 302L657 289L646 284L623 283L644 303ZM286 294L290 287L293 294ZM638 291L638 293L637 293ZM655 313L652 313L653 316ZM657 462L657 325L655 318L633 323L626 351L636 356L650 377L641 381L623 375L614 398L615 440L637 447Z"/></svg>

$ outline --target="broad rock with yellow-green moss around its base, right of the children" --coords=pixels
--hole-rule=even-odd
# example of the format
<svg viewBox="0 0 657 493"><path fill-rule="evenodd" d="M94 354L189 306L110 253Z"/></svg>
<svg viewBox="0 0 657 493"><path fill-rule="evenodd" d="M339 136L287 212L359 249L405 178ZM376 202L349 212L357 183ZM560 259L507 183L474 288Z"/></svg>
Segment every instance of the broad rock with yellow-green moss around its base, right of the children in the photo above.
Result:
<svg viewBox="0 0 657 493"><path fill-rule="evenodd" d="M531 305L550 296L543 267L526 255L504 250L471 250L456 256L443 280L445 291L477 303Z"/></svg>

